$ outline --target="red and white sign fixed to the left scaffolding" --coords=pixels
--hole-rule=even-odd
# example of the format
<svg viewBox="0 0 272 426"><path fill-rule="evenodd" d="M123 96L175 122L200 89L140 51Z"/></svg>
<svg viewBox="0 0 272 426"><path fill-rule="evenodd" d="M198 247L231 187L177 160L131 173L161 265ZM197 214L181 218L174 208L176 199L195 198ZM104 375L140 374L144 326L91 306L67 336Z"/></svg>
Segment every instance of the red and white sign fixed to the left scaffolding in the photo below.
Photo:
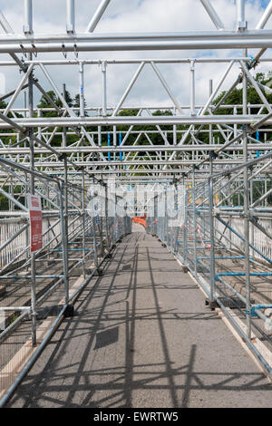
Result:
<svg viewBox="0 0 272 426"><path fill-rule="evenodd" d="M30 219L30 251L34 252L43 247L43 213L41 198L28 195Z"/></svg>

